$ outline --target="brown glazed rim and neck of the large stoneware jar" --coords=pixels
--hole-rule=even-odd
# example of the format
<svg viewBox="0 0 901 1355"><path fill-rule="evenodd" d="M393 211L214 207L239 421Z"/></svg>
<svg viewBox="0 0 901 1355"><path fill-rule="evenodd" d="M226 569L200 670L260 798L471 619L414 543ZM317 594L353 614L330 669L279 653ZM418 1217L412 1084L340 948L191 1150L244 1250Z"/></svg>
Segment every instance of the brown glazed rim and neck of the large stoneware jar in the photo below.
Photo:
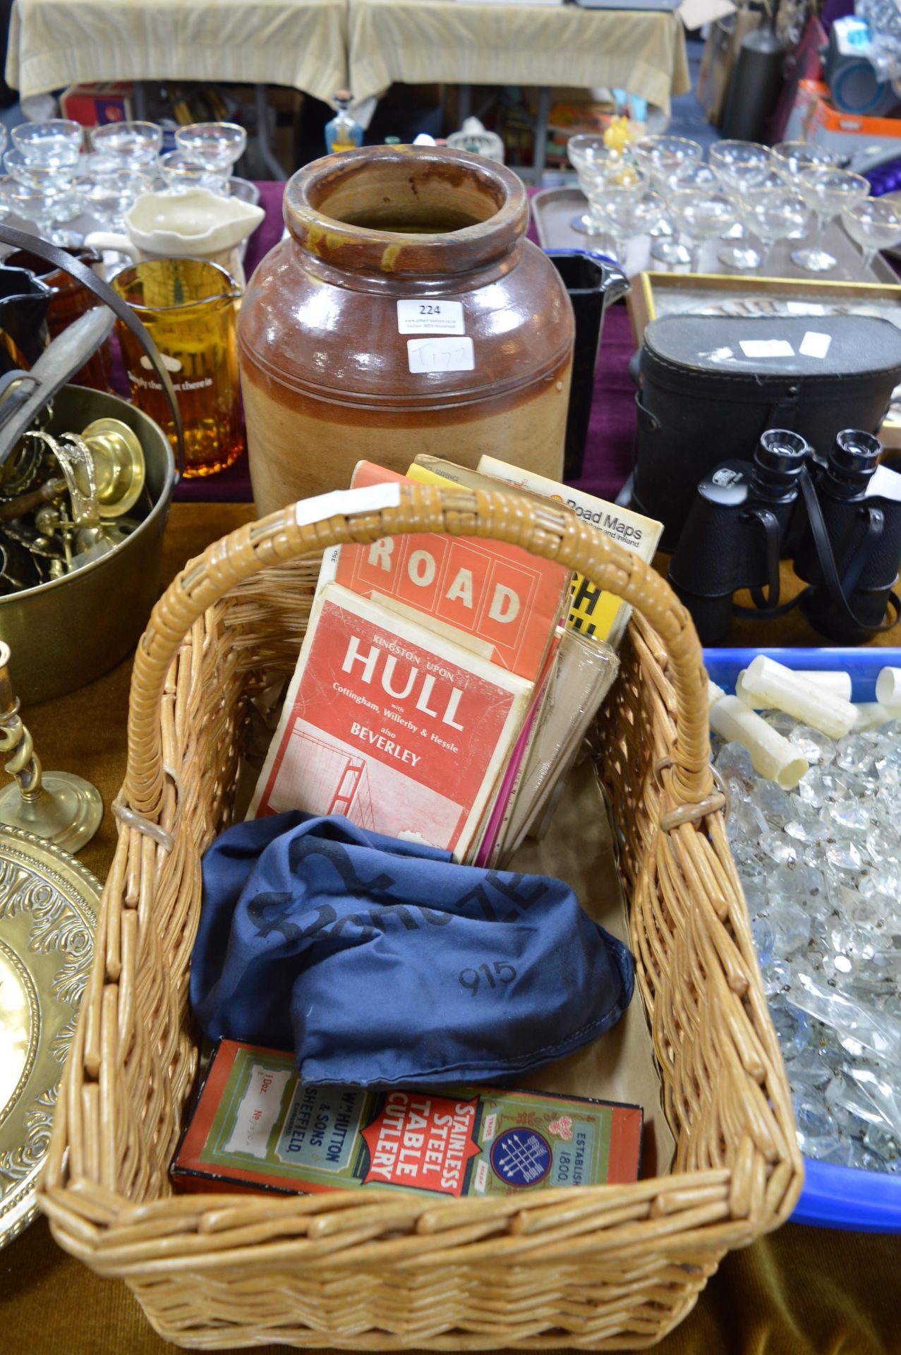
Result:
<svg viewBox="0 0 901 1355"><path fill-rule="evenodd" d="M306 267L329 280L352 272L453 287L522 247L528 199L515 173L466 150L369 146L299 169L285 222Z"/></svg>

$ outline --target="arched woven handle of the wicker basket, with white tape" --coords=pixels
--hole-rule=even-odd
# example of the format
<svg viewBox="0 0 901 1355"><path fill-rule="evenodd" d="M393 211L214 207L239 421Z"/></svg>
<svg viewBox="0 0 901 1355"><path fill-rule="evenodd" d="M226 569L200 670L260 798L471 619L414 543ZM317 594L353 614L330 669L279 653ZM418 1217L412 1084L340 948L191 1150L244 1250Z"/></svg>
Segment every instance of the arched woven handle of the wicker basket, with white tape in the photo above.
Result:
<svg viewBox="0 0 901 1355"><path fill-rule="evenodd" d="M402 533L447 533L509 542L556 560L631 603L667 646L677 738L667 778L671 805L702 805L713 790L707 676L688 611L649 565L574 514L509 493L432 485L379 485L291 504L238 527L190 561L160 598L138 644L129 703L129 759L119 804L159 824L164 766L160 702L191 626L230 588L267 565L329 546ZM378 507L374 507L378 504ZM383 507L389 504L389 507ZM694 816L692 816L694 817ZM159 833L159 827L156 828Z"/></svg>

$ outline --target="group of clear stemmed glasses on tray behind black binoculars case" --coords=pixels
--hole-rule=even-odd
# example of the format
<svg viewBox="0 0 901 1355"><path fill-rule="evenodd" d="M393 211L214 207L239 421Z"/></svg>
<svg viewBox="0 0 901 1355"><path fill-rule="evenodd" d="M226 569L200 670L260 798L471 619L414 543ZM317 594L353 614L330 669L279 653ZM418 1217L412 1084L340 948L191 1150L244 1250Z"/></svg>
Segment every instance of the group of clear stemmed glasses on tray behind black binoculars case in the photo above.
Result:
<svg viewBox="0 0 901 1355"><path fill-rule="evenodd" d="M588 199L573 230L607 237L623 260L629 240L648 234L650 257L696 272L707 240L722 238L718 262L763 270L782 240L798 241L791 262L806 272L831 272L836 259L822 236L836 218L860 247L860 272L873 256L901 243L898 195L870 198L862 176L839 167L839 156L805 141L759 145L719 141L703 163L703 148L686 137L644 137L622 150L603 136L570 137L569 161ZM688 248L682 236L691 241Z"/></svg>

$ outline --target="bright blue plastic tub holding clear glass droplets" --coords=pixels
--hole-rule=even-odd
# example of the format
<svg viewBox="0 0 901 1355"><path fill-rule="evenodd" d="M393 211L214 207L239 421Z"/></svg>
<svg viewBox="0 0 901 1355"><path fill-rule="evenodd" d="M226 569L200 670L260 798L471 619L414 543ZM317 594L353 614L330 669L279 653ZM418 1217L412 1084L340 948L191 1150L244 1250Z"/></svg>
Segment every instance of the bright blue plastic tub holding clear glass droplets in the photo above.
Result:
<svg viewBox="0 0 901 1355"><path fill-rule="evenodd" d="M725 691L757 654L786 668L843 669L851 673L854 701L875 701L881 668L901 668L901 649L705 649L707 673ZM901 1176L833 1167L805 1157L805 1183L793 1224L847 1232L901 1233Z"/></svg>

